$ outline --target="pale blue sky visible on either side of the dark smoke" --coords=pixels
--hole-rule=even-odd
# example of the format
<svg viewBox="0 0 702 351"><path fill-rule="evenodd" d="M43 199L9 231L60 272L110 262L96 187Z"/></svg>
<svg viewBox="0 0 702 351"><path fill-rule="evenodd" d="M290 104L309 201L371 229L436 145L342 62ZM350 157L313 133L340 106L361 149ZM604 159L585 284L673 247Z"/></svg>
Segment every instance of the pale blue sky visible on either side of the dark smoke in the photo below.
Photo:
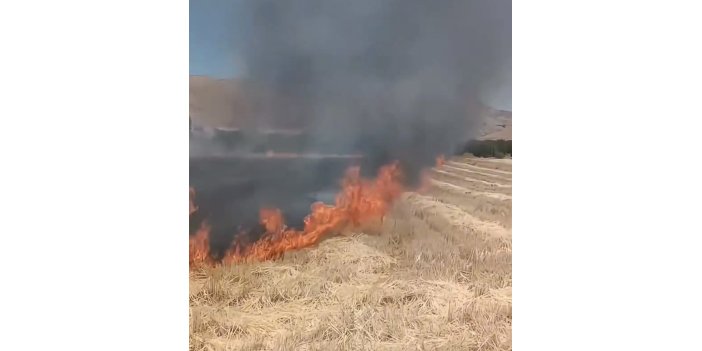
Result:
<svg viewBox="0 0 702 351"><path fill-rule="evenodd" d="M237 48L243 46L240 0L190 0L190 75L235 78L245 71ZM238 21L238 22L235 22ZM512 110L512 67L485 87L482 99L494 108Z"/></svg>

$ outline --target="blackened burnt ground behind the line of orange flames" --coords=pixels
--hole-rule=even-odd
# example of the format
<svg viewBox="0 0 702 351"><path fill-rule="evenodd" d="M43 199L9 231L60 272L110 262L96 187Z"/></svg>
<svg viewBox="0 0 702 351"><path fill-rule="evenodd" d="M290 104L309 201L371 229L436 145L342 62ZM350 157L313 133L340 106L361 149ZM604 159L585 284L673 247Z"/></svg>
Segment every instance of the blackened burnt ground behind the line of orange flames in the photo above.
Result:
<svg viewBox="0 0 702 351"><path fill-rule="evenodd" d="M238 133L229 134L241 138ZM297 152L300 150L291 147L289 136L281 138L283 147L259 145L253 150L231 147L242 141L221 135L210 140L226 147L190 155L190 186L195 189L198 206L190 218L190 235L207 220L215 257L229 247L237 233L246 233L247 241L263 234L261 208L279 208L288 226L302 228L310 206L317 201L333 204L346 169L363 163L360 155ZM264 149L267 151L262 152Z"/></svg>

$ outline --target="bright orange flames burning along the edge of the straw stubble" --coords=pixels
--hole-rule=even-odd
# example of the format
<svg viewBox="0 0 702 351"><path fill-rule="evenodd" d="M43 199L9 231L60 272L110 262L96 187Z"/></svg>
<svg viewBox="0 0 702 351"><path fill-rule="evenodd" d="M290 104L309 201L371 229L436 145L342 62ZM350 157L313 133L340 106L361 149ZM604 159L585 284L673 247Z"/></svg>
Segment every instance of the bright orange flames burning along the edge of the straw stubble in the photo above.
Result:
<svg viewBox="0 0 702 351"><path fill-rule="evenodd" d="M358 226L372 219L382 220L393 201L404 191L402 178L397 162L382 167L374 180L363 179L358 167L349 168L335 204L314 203L302 230L287 228L279 209L261 209L260 221L266 233L249 246L235 240L222 262L233 264L279 258L287 251L313 246L346 227ZM209 227L205 225L190 239L191 264L211 262L208 234Z"/></svg>

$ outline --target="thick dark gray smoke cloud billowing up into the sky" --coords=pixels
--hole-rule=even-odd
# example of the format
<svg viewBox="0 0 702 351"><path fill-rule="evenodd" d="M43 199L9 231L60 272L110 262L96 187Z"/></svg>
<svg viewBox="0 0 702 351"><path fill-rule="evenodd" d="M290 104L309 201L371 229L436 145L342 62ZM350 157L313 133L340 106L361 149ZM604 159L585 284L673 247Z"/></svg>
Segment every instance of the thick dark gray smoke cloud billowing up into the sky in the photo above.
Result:
<svg viewBox="0 0 702 351"><path fill-rule="evenodd" d="M419 165L475 136L511 64L511 1L248 0L247 76L295 101L307 146Z"/></svg>

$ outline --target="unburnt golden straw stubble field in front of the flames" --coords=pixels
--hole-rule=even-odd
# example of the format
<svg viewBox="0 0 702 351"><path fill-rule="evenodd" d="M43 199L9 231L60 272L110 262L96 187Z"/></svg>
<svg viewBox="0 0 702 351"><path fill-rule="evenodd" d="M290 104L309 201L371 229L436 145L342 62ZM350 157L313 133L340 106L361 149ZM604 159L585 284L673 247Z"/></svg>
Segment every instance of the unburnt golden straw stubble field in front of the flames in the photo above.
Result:
<svg viewBox="0 0 702 351"><path fill-rule="evenodd" d="M382 223L191 272L190 349L511 350L511 159L431 176Z"/></svg>

